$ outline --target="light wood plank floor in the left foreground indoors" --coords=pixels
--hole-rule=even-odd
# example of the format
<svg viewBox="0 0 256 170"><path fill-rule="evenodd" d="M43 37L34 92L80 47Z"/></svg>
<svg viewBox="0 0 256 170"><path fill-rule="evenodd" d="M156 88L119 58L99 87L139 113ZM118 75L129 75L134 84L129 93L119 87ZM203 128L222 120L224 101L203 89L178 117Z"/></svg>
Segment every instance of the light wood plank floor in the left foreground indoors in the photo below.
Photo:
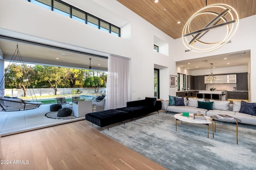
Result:
<svg viewBox="0 0 256 170"><path fill-rule="evenodd" d="M97 128L102 130L82 120L2 137L3 160L11 164L0 164L0 170L165 169Z"/></svg>

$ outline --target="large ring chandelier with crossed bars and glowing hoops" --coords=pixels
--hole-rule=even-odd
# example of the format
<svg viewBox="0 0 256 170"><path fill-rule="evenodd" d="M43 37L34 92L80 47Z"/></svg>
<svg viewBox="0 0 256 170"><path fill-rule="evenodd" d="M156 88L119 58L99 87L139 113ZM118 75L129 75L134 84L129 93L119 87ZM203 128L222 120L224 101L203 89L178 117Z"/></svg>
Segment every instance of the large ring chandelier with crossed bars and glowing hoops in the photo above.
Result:
<svg viewBox="0 0 256 170"><path fill-rule="evenodd" d="M206 25L193 30L191 25L201 20L200 16L206 21ZM238 20L238 14L231 6L226 4L207 6L206 0L206 7L198 10L185 24L182 41L190 51L197 53L214 51L233 37L238 27Z"/></svg>

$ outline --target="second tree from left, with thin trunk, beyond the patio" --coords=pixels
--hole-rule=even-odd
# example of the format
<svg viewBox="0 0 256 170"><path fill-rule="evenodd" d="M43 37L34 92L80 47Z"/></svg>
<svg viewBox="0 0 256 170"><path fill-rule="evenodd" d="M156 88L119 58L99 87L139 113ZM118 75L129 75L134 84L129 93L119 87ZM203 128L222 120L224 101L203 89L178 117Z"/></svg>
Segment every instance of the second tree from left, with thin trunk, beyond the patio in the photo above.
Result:
<svg viewBox="0 0 256 170"><path fill-rule="evenodd" d="M54 89L55 95L57 95L58 85L63 85L63 80L65 79L66 75L66 68L36 65L35 71L37 73L37 82L48 82L50 87Z"/></svg>

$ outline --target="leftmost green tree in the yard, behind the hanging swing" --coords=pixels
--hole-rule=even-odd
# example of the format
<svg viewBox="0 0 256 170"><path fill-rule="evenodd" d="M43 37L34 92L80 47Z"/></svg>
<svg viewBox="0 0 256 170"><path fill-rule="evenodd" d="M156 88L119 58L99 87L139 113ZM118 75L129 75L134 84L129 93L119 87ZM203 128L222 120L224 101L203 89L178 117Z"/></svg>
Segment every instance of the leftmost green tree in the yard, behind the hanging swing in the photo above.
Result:
<svg viewBox="0 0 256 170"><path fill-rule="evenodd" d="M7 69L7 68L6 68ZM35 72L31 66L26 64L12 64L5 74L5 87L7 88L21 88L26 97L26 91L30 87L31 82L35 79Z"/></svg>

